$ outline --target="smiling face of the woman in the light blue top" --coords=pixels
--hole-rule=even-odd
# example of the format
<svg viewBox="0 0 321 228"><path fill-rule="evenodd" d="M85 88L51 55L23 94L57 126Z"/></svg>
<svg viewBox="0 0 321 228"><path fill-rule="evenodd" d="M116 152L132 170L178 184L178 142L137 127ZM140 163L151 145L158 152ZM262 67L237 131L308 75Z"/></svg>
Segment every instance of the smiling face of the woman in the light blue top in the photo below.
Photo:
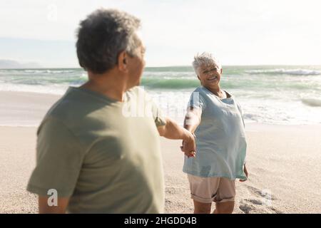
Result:
<svg viewBox="0 0 321 228"><path fill-rule="evenodd" d="M220 76L222 74L222 68L216 65L200 66L198 68L198 79L202 86L210 88L217 87L220 83Z"/></svg>

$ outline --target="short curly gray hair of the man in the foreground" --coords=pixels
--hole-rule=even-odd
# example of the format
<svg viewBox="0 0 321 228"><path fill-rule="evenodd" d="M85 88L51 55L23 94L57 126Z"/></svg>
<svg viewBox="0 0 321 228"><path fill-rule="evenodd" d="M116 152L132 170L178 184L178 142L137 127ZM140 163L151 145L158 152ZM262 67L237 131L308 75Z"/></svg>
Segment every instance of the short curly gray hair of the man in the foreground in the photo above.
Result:
<svg viewBox="0 0 321 228"><path fill-rule="evenodd" d="M98 9L81 21L76 43L81 67L93 73L105 73L118 62L118 55L126 51L136 56L141 45L136 31L141 21L116 9Z"/></svg>

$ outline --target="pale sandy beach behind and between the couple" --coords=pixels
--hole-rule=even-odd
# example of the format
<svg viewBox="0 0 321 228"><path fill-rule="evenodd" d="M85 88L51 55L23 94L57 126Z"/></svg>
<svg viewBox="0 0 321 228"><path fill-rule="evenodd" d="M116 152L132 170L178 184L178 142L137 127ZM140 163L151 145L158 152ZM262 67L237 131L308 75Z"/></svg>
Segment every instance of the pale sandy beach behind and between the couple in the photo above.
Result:
<svg viewBox="0 0 321 228"><path fill-rule="evenodd" d="M58 98L0 92L0 213L37 212L36 196L26 192L36 125ZM234 213L321 213L321 125L251 123L245 129L250 176L237 182ZM165 213L192 213L180 141L161 138L161 144Z"/></svg>

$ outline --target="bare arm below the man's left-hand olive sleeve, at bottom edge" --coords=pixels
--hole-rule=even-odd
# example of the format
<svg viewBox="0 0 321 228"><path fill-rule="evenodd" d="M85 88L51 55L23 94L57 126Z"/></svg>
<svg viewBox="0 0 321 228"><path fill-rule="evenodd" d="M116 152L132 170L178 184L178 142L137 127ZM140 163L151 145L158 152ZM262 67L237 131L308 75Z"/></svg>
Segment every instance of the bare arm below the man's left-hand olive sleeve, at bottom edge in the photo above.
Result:
<svg viewBox="0 0 321 228"><path fill-rule="evenodd" d="M39 196L39 214L65 214L66 208L68 206L69 198L57 199L57 206L49 206L48 204L49 197Z"/></svg>

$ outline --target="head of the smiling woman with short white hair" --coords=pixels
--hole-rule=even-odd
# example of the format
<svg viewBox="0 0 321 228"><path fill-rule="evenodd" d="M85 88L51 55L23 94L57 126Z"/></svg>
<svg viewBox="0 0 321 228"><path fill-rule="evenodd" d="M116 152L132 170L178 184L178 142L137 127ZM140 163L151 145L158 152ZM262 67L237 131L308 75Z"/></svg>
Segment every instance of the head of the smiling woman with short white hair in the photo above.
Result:
<svg viewBox="0 0 321 228"><path fill-rule="evenodd" d="M211 53L203 52L195 55L193 68L202 86L215 88L220 83L222 66Z"/></svg>

